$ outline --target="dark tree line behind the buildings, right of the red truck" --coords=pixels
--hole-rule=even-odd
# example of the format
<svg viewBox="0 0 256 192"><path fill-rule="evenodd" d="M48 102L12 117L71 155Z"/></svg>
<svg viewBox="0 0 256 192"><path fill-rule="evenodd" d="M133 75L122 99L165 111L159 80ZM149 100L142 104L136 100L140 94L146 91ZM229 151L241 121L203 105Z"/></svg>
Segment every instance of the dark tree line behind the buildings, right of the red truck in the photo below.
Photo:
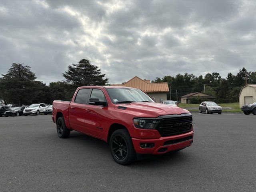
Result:
<svg viewBox="0 0 256 192"><path fill-rule="evenodd" d="M226 78L222 78L218 72L207 73L195 76L194 74L185 73L176 76L156 77L152 82L167 82L171 88L171 99L178 100L183 95L192 92L204 92L211 96L215 96L218 103L231 103L239 101L239 92L245 84L256 84L256 72L248 72L246 68L242 68L237 74L228 73ZM178 93L178 94L177 94ZM170 99L170 94L167 95ZM196 103L200 103L197 98Z"/></svg>

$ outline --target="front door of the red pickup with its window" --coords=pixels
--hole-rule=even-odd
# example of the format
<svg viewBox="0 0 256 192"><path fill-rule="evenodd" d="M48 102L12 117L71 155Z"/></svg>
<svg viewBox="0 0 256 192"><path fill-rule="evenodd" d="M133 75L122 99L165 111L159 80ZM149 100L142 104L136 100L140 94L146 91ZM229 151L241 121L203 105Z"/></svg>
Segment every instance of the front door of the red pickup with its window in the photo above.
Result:
<svg viewBox="0 0 256 192"><path fill-rule="evenodd" d="M106 96L100 89L92 89L89 98L98 98L99 101L106 102ZM100 105L90 105L85 106L85 121L84 126L86 133L96 136L98 138L104 138L104 128L106 122L106 112L108 110L107 106Z"/></svg>

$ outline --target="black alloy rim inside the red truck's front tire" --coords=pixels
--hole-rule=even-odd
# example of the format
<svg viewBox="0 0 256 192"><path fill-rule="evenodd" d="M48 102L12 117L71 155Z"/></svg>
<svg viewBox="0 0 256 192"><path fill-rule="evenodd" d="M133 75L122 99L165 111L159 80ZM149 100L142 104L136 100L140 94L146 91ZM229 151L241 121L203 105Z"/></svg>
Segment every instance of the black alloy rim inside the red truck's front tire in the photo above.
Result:
<svg viewBox="0 0 256 192"><path fill-rule="evenodd" d="M124 138L117 135L112 140L112 151L118 160L123 160L127 155L127 144Z"/></svg>

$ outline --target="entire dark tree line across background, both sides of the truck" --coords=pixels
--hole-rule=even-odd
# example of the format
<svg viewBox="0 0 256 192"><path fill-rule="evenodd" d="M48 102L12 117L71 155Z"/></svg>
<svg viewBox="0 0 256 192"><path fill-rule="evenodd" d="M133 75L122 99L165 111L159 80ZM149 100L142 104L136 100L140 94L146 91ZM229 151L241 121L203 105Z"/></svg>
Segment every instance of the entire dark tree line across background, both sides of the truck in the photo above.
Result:
<svg viewBox="0 0 256 192"><path fill-rule="evenodd" d="M11 68L0 78L0 100L21 106L32 103L51 104L53 100L71 99L78 86L109 85L106 74L101 73L98 66L89 60L82 59L78 64L68 66L63 74L63 80L50 82L49 85L36 80L36 74L30 66L13 63ZM242 86L256 84L256 72L248 72L245 68L236 75L228 73L222 78L219 73L208 73L204 77L194 74L177 74L176 76L156 77L152 82L167 82L171 94L167 98L178 100L191 92L206 92L216 97L216 102L238 102L238 94ZM199 98L195 102L200 102Z"/></svg>

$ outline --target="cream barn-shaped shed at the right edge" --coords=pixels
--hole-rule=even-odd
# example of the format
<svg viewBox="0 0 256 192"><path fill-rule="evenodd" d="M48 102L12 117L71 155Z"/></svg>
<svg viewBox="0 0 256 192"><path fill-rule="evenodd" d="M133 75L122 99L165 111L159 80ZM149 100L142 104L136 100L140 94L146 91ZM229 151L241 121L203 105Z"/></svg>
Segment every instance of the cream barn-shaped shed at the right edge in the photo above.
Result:
<svg viewBox="0 0 256 192"><path fill-rule="evenodd" d="M239 93L239 106L242 107L253 102L256 102L256 84L242 87Z"/></svg>

